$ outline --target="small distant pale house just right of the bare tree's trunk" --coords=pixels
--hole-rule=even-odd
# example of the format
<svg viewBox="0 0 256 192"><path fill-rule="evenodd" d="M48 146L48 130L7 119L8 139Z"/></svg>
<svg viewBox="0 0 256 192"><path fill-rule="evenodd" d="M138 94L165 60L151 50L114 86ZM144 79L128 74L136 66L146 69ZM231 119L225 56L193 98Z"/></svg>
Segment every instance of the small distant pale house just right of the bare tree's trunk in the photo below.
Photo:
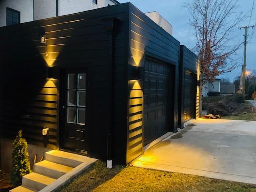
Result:
<svg viewBox="0 0 256 192"><path fill-rule="evenodd" d="M220 79L215 79L214 82L206 82L203 85L202 92L204 97L220 96Z"/></svg>

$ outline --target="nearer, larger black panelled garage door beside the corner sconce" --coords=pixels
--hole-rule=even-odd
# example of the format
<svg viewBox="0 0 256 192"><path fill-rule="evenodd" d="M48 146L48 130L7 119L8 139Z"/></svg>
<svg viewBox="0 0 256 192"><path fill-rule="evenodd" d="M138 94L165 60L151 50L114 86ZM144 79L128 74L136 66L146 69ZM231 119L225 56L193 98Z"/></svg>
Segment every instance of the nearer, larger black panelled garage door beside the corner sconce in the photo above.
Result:
<svg viewBox="0 0 256 192"><path fill-rule="evenodd" d="M166 64L151 59L145 60L144 70L144 145L146 145L170 130L173 70L170 70Z"/></svg>

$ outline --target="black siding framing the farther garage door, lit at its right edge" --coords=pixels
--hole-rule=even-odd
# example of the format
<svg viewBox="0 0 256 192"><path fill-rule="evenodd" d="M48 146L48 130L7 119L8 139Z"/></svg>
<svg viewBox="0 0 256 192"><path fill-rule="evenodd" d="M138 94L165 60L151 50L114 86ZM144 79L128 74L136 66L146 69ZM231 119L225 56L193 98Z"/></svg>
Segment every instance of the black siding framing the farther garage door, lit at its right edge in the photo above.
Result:
<svg viewBox="0 0 256 192"><path fill-rule="evenodd" d="M190 51L186 46L180 46L180 79L179 79L179 102L178 102L178 127L183 128L183 114L184 114L184 74L188 70L195 74L196 79L199 79L200 66L198 57ZM199 116L199 88L196 90L196 118Z"/></svg>

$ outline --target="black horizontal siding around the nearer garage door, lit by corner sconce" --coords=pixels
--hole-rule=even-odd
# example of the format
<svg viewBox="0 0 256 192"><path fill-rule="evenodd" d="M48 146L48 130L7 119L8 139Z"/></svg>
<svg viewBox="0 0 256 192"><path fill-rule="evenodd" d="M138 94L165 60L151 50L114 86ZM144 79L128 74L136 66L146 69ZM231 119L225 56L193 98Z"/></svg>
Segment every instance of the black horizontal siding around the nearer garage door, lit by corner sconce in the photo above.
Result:
<svg viewBox="0 0 256 192"><path fill-rule="evenodd" d="M138 10L135 6L130 4L130 21L129 21L129 71L132 70L132 66L144 66L145 56L162 60L174 65L175 67L175 80L174 80L174 122L170 131L176 132L178 121L178 65L179 65L179 46L175 38L164 31L160 26ZM130 74L130 73L129 73ZM129 79L131 77L129 76ZM143 80L137 80L142 85ZM134 81L131 82L134 84ZM132 86L129 86L132 87ZM143 90L143 87L141 87ZM128 88L128 99L131 99L130 92L132 89ZM129 106L128 108L134 108ZM137 107L138 108L138 107ZM140 111L138 114L142 114L143 106L140 105ZM126 162L130 162L134 158L138 157L143 152L143 125L138 123L138 119L131 121L133 114L128 114L128 127L127 127L127 158ZM142 121L142 118L140 119ZM136 123L138 127L130 129L131 125Z"/></svg>

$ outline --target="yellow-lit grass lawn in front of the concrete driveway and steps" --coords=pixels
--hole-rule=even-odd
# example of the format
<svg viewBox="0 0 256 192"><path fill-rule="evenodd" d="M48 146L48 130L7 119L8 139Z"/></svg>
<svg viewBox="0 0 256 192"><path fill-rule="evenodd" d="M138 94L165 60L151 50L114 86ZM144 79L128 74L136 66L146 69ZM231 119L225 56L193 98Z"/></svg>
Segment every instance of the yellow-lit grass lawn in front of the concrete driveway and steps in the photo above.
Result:
<svg viewBox="0 0 256 192"><path fill-rule="evenodd" d="M256 186L180 173L115 166L97 161L58 192L256 192Z"/></svg>

